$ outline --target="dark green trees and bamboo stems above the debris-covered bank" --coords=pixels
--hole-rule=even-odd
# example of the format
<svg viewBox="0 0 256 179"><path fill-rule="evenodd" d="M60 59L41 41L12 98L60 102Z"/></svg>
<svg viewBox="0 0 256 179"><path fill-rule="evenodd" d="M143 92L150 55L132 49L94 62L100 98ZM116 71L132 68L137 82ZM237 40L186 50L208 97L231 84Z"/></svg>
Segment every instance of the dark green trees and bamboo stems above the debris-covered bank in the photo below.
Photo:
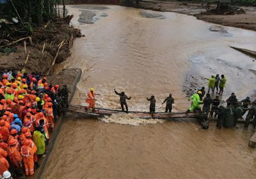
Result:
<svg viewBox="0 0 256 179"><path fill-rule="evenodd" d="M34 27L60 16L60 3L64 0L0 0L0 39L32 33Z"/></svg>

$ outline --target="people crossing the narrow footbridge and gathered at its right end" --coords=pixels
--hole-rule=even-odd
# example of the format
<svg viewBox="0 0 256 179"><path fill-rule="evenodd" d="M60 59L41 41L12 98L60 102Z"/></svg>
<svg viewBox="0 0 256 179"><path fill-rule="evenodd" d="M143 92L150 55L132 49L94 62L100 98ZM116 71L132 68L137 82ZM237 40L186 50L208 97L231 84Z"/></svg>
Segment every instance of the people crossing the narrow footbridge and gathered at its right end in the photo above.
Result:
<svg viewBox="0 0 256 179"><path fill-rule="evenodd" d="M243 118L246 111L248 114L246 115L246 119L244 121L244 127L248 127L250 124L250 120L253 119L253 127L256 128L256 101L251 102L250 97L246 97L245 99L239 101L236 98L235 93L232 93L231 96L226 100L227 107L221 105L221 96L223 95L224 88L227 83L227 79L225 75L211 75L210 78L205 78L208 81L208 89L205 95L205 88L202 87L199 89L194 95L192 95L189 100L191 100L191 107L186 111L186 114L189 112L198 112L205 114L206 119L209 117L217 118L217 127L221 128L223 120L225 118L225 111L232 110L234 111L234 126L236 127L237 120ZM128 113L128 105L126 100L130 100L131 97L127 97L125 92L121 93L117 92L114 89L116 95L120 97L120 105L122 111ZM215 95L214 95L215 92ZM211 94L212 93L212 94ZM86 97L86 103L88 104L85 109L86 111L92 108L92 111L95 111L95 96L99 95L95 93L94 88L90 88L88 95ZM214 98L212 98L214 97ZM150 98L147 98L150 101L149 112L154 114L156 112L156 98L152 95ZM165 113L172 113L172 105L174 104L174 98L172 94L165 98L162 104L166 102ZM203 104L201 110L201 104ZM125 107L125 109L124 109Z"/></svg>

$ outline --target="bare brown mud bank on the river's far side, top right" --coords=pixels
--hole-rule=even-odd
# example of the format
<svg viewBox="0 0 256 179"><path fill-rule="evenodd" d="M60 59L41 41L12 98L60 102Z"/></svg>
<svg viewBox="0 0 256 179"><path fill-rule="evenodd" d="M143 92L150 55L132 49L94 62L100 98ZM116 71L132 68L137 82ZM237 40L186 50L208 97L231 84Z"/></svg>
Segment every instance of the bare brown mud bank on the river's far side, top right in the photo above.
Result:
<svg viewBox="0 0 256 179"><path fill-rule="evenodd" d="M191 1L143 1L136 7L160 12L184 13L206 22L256 31L256 7L239 6L246 12L235 15L208 15L205 13L204 3L191 3Z"/></svg>

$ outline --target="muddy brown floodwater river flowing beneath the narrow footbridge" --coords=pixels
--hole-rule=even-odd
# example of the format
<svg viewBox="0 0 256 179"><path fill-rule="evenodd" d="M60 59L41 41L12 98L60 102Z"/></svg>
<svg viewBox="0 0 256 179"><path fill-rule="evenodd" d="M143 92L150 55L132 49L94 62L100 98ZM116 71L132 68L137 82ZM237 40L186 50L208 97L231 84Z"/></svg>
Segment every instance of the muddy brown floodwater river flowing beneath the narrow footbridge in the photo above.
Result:
<svg viewBox="0 0 256 179"><path fill-rule="evenodd" d="M72 104L84 105L94 87L97 106L116 109L116 88L132 97L129 109L147 111L145 98L155 95L156 109L163 111L161 102L172 93L173 110L185 111L185 92L207 86L203 78L212 74L227 76L223 100L231 92L240 100L255 93L249 69L256 70L256 62L230 48L256 50L253 31L121 6L68 6L68 13L86 35L58 66L83 70ZM256 178L256 152L248 148L253 128L219 130L211 123L202 130L192 119L143 121L129 115L104 121L70 116L42 178Z"/></svg>

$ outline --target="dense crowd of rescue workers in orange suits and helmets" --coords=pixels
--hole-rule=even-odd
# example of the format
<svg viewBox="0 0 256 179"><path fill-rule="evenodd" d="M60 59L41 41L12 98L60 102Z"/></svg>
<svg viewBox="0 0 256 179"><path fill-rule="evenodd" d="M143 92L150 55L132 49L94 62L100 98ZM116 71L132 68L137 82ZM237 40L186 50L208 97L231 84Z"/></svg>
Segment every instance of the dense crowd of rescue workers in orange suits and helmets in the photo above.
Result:
<svg viewBox="0 0 256 179"><path fill-rule="evenodd" d="M0 75L0 175L33 175L58 118L56 98L67 104L69 91L24 69L1 70Z"/></svg>

